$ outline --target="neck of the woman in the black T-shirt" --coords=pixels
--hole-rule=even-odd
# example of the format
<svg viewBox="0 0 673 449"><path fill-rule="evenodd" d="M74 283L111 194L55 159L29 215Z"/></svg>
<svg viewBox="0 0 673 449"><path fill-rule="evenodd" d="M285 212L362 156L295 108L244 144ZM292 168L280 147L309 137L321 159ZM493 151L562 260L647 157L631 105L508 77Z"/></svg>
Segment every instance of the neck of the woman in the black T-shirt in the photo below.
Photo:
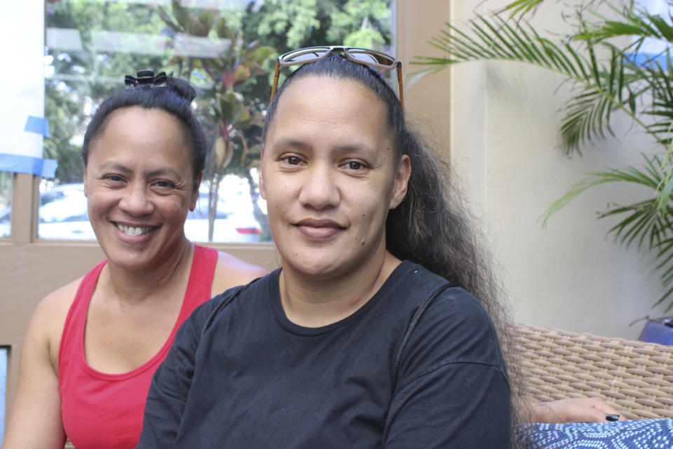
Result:
<svg viewBox="0 0 673 449"><path fill-rule="evenodd" d="M287 319L299 326L318 328L355 313L379 291L400 260L385 251L355 272L334 279L308 276L283 267L280 302Z"/></svg>

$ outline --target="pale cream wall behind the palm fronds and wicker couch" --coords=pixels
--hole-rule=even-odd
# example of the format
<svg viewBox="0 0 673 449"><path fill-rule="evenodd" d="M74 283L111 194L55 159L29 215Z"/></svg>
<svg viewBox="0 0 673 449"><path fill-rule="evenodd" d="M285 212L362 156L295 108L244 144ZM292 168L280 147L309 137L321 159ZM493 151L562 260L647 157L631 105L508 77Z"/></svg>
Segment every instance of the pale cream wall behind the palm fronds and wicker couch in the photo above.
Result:
<svg viewBox="0 0 673 449"><path fill-rule="evenodd" d="M508 3L454 1L451 20L472 17L476 6L487 11ZM533 25L562 31L559 3L547 1ZM636 338L642 323L629 323L661 315L651 305L663 289L651 255L616 244L606 235L616 220L597 220L596 213L609 201L627 204L651 192L606 185L585 192L552 217L547 229L538 218L583 173L639 165L639 152L652 145L620 120L616 138L583 147L583 157L569 159L559 148L560 109L569 97L561 81L528 65L454 67L451 159L489 229L517 321Z"/></svg>

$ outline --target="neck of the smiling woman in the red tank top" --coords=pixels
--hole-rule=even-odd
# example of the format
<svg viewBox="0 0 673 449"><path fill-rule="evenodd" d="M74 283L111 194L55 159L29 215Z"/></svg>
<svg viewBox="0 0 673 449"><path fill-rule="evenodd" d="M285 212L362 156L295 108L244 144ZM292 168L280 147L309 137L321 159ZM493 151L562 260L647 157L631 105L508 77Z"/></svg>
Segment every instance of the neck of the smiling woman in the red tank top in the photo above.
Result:
<svg viewBox="0 0 673 449"><path fill-rule="evenodd" d="M125 269L108 262L99 283L119 302L128 305L147 302L152 297L166 297L165 292L177 290L189 278L192 255L193 244L184 239L169 257L146 269Z"/></svg>

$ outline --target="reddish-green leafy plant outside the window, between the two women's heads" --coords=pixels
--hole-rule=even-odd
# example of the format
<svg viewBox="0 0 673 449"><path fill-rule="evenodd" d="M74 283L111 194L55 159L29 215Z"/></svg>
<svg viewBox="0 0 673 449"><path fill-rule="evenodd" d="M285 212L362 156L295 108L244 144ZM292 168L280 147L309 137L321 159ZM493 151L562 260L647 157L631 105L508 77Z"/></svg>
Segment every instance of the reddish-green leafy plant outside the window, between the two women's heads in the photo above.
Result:
<svg viewBox="0 0 673 449"><path fill-rule="evenodd" d="M266 214L254 201L257 199L257 182L250 174L250 168L259 163L261 153L261 143L252 128L261 129L264 114L255 110L240 90L266 76L264 65L275 50L262 46L259 40L246 41L243 32L229 27L224 15L215 10L192 10L181 6L178 0L172 0L171 6L171 13L161 6L158 12L177 35L228 43L217 55L175 56L172 60L179 67L180 76L205 80L210 85L202 88L205 99L200 102L208 121L205 128L208 130L212 123L216 128L214 132L211 130L215 138L204 171L208 181L208 241L212 241L215 230L219 187L230 173L247 180L254 217L268 235Z"/></svg>

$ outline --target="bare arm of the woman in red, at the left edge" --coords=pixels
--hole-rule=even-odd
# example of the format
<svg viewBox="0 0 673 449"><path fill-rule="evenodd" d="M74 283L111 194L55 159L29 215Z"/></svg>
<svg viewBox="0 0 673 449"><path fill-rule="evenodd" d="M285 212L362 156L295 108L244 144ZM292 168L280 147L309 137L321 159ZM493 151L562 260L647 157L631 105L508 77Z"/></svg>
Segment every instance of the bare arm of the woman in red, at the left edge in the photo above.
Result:
<svg viewBox="0 0 673 449"><path fill-rule="evenodd" d="M65 433L58 385L58 344L73 283L40 302L26 330L16 397L2 449L62 449Z"/></svg>

